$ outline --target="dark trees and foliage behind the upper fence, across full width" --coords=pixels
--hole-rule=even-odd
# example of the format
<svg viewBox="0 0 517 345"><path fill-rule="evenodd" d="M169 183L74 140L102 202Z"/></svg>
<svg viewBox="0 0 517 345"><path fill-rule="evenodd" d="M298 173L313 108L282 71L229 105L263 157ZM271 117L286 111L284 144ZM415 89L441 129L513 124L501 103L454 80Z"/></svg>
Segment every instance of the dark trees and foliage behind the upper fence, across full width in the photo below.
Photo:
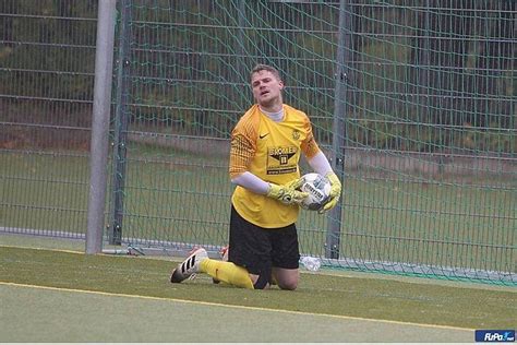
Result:
<svg viewBox="0 0 517 345"><path fill-rule="evenodd" d="M266 62L280 69L286 100L311 116L324 143L332 142L332 118L339 116L354 146L515 154L516 62L507 44L515 39L515 8L466 1L453 14L449 2L431 1L435 10L428 11L416 11L426 5L418 3L350 7L347 111L334 114L335 4L134 1L127 116L177 133L227 138L252 102L249 69ZM7 5L4 12L16 15L0 26L0 92L92 100L96 11L95 1ZM454 15L461 25L450 24Z"/></svg>

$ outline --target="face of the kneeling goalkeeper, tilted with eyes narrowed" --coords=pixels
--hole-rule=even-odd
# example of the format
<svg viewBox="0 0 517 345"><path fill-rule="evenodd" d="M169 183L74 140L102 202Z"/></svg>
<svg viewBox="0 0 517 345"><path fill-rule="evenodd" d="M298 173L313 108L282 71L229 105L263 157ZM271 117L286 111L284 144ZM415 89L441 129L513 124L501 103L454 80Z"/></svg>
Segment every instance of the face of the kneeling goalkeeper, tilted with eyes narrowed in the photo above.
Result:
<svg viewBox="0 0 517 345"><path fill-rule="evenodd" d="M278 80L269 71L262 70L253 73L251 76L251 87L253 96L261 106L270 106L275 103L281 103L281 90L284 82Z"/></svg>

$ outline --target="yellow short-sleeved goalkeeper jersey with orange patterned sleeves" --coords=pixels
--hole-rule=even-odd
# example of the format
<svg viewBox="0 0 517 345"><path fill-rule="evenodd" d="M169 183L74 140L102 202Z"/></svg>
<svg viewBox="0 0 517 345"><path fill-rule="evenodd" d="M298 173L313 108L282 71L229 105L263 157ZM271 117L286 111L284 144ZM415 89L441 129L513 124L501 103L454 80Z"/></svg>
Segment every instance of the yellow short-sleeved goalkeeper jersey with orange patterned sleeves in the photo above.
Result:
<svg viewBox="0 0 517 345"><path fill-rule="evenodd" d="M284 119L275 122L252 106L231 132L230 177L250 171L266 182L285 185L300 177L300 154L312 158L320 152L309 117L284 105ZM238 186L231 197L237 212L264 228L294 223L299 206L286 205Z"/></svg>

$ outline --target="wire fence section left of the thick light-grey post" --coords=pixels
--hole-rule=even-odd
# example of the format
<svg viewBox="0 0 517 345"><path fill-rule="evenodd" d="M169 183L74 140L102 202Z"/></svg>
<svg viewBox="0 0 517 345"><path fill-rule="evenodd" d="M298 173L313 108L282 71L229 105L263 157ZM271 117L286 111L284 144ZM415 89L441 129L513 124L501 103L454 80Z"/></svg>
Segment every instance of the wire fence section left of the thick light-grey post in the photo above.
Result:
<svg viewBox="0 0 517 345"><path fill-rule="evenodd" d="M93 2L0 2L4 231L84 238L96 10Z"/></svg>

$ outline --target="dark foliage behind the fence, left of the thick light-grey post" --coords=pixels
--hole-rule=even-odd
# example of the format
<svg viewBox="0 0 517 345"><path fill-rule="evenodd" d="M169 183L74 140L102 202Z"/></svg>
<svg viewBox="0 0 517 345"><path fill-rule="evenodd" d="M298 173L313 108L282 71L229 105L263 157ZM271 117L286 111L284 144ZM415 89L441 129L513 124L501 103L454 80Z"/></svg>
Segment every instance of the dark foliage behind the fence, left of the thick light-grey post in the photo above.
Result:
<svg viewBox="0 0 517 345"><path fill-rule="evenodd" d="M96 5L93 1L20 1L4 17L0 74L4 94L92 99Z"/></svg>

